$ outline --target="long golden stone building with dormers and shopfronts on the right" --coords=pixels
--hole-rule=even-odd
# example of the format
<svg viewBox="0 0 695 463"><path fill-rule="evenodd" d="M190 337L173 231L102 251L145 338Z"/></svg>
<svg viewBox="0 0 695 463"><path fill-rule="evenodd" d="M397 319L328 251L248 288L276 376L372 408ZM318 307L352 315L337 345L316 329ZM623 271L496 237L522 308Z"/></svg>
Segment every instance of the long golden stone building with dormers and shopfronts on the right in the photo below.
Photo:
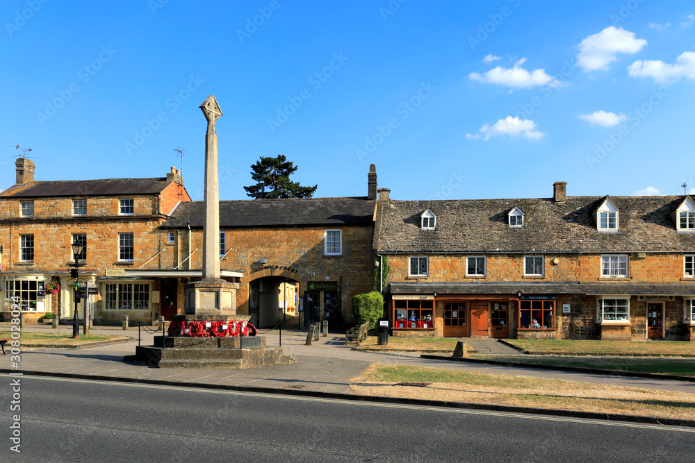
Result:
<svg viewBox="0 0 695 463"><path fill-rule="evenodd" d="M379 190L393 335L695 340L695 201L565 188L461 201Z"/></svg>

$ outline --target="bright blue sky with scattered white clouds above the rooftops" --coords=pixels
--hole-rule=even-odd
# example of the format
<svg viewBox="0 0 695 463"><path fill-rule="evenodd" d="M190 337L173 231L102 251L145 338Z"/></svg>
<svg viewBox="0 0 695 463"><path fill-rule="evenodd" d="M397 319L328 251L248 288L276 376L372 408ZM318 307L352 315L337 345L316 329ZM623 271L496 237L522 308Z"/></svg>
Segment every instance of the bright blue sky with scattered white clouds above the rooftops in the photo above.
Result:
<svg viewBox="0 0 695 463"><path fill-rule="evenodd" d="M3 1L0 188L284 154L315 196L695 192L692 1ZM642 193L639 193L642 192Z"/></svg>

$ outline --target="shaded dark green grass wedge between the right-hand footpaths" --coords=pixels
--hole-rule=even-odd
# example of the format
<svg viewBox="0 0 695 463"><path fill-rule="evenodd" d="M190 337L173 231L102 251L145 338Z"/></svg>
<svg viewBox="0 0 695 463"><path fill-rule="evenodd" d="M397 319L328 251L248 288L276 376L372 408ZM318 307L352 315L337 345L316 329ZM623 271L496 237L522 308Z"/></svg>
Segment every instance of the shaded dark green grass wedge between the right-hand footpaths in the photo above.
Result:
<svg viewBox="0 0 695 463"><path fill-rule="evenodd" d="M491 360L520 364L541 364L553 367L600 368L638 373L690 376L695 378L695 360L682 358L644 357L491 357Z"/></svg>

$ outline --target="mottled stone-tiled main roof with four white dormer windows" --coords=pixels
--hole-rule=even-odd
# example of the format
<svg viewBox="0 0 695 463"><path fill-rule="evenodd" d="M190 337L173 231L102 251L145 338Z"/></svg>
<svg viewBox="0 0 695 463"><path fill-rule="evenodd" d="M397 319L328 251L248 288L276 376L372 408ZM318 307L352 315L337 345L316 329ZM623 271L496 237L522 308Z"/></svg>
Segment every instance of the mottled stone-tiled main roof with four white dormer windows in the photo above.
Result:
<svg viewBox="0 0 695 463"><path fill-rule="evenodd" d="M683 196L611 196L619 232L599 233L593 212L605 198L391 200L379 212L375 243L384 253L695 251L695 234L678 233L671 219ZM514 206L525 213L523 227L509 227ZM420 228L427 209L436 215L436 230Z"/></svg>

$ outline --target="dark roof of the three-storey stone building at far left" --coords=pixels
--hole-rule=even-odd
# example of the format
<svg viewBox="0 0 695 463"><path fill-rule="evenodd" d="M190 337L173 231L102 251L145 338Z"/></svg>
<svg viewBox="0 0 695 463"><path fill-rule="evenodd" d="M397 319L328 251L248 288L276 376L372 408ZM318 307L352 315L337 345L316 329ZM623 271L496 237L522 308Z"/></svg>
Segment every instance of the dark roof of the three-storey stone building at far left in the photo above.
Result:
<svg viewBox="0 0 695 463"><path fill-rule="evenodd" d="M14 185L0 193L0 196L38 198L45 196L158 194L170 183L171 182L167 182L166 178L106 178L104 180L36 181L24 185Z"/></svg>

